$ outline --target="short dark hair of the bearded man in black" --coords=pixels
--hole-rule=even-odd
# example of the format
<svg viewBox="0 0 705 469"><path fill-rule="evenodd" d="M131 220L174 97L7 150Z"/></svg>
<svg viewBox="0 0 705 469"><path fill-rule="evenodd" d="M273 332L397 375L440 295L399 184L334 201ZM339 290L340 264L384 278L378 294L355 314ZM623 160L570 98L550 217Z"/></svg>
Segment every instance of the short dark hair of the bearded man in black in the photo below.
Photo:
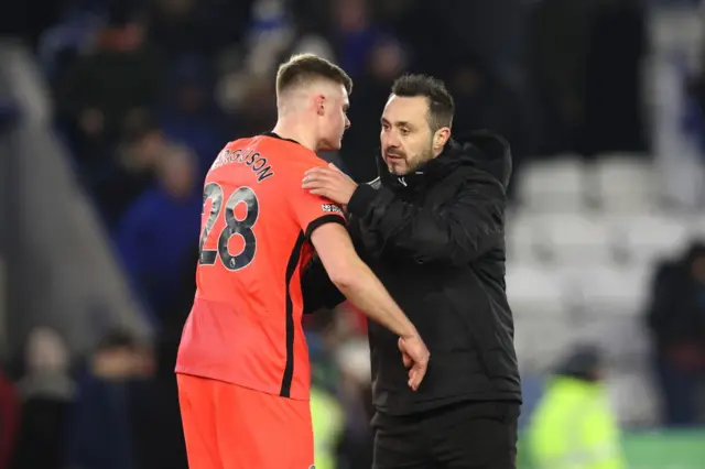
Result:
<svg viewBox="0 0 705 469"><path fill-rule="evenodd" d="M392 85L392 94L404 98L423 96L429 100L429 127L436 131L453 124L455 103L445 84L429 75L403 75Z"/></svg>

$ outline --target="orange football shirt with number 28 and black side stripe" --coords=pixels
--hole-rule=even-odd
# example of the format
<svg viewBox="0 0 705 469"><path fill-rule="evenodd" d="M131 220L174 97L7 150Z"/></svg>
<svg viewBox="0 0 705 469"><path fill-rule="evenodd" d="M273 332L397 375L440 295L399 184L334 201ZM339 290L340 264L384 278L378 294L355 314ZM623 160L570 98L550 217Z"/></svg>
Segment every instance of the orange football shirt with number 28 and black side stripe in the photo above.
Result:
<svg viewBox="0 0 705 469"><path fill-rule="evenodd" d="M301 325L302 269L311 232L345 223L338 206L301 187L325 166L273 133L230 142L204 185L197 291L176 372L307 400L308 348Z"/></svg>

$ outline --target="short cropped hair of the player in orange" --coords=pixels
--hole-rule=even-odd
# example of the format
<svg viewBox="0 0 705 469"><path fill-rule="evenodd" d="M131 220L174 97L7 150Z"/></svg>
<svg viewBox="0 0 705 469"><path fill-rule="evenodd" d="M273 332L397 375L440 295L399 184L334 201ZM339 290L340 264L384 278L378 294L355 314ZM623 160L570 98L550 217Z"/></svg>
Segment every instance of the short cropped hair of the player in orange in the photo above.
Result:
<svg viewBox="0 0 705 469"><path fill-rule="evenodd" d="M313 78L325 78L343 85L352 92L352 80L343 68L314 54L299 54L279 66L276 72L276 94L303 85Z"/></svg>

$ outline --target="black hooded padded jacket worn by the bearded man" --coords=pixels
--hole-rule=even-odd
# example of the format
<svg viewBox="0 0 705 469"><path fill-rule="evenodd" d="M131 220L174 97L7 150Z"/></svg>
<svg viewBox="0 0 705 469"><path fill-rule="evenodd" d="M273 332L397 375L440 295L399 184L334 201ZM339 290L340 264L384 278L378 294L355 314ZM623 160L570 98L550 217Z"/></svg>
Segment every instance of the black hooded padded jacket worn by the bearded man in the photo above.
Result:
<svg viewBox="0 0 705 469"><path fill-rule="evenodd" d="M460 401L521 401L513 319L505 293L508 143L477 132L448 142L415 174L360 185L348 205L350 236L431 350L416 392L398 337L370 321L373 402L409 414ZM306 309L341 301L314 266Z"/></svg>

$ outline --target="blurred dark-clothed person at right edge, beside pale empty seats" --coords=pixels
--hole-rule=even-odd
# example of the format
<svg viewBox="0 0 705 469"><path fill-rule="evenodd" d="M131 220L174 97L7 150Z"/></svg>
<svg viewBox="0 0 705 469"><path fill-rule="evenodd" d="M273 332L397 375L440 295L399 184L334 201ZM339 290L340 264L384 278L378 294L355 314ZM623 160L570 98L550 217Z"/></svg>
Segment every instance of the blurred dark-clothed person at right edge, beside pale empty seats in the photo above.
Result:
<svg viewBox="0 0 705 469"><path fill-rule="evenodd" d="M669 426L705 422L698 396L705 386L705 243L657 268L647 312L655 372Z"/></svg>

